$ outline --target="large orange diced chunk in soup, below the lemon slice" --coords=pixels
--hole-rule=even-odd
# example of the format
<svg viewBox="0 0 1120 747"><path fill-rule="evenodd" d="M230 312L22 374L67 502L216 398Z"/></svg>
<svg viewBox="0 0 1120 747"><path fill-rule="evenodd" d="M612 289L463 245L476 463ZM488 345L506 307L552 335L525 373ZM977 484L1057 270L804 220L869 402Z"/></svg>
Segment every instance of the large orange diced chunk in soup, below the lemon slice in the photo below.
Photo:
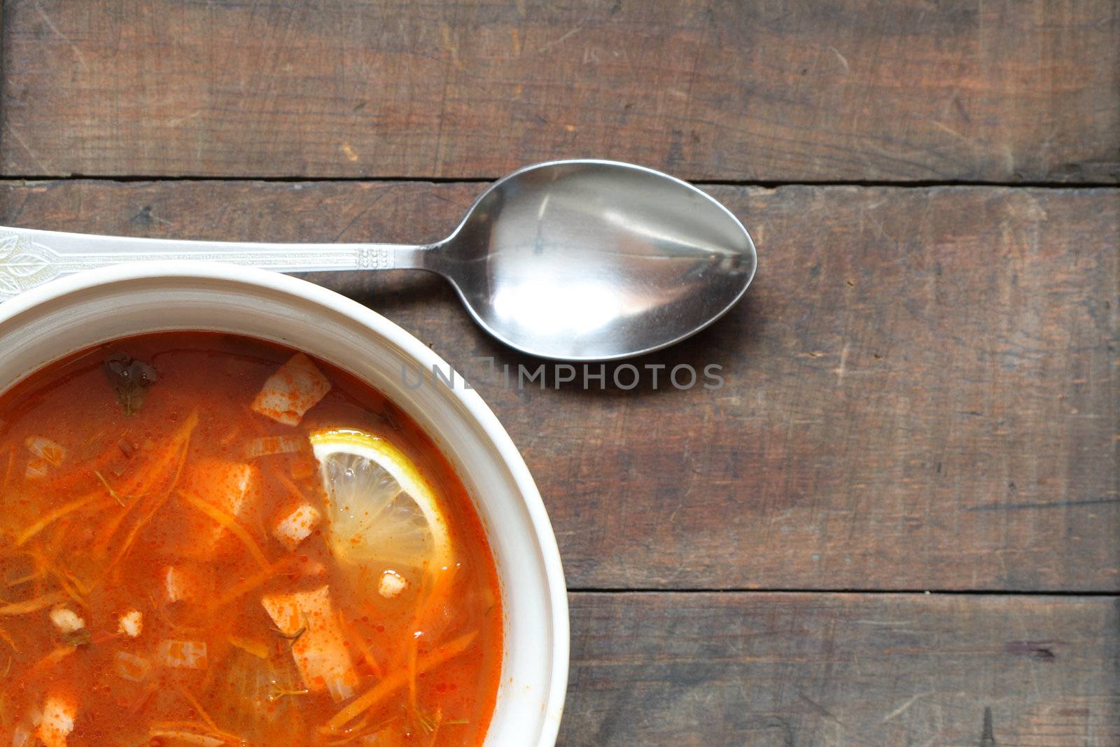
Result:
<svg viewBox="0 0 1120 747"><path fill-rule="evenodd" d="M261 604L280 633L295 638L292 657L309 690L327 690L336 702L354 694L358 676L327 586L314 591L265 596Z"/></svg>

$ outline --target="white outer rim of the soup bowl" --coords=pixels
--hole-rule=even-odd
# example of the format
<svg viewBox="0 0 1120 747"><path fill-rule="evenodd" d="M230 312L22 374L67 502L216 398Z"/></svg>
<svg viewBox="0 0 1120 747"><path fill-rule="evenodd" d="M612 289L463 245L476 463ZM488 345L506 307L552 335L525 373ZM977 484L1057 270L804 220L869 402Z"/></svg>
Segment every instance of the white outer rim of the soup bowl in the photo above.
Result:
<svg viewBox="0 0 1120 747"><path fill-rule="evenodd" d="M442 357L411 333L373 309L337 291L301 278L295 278L271 270L198 260L124 262L56 278L0 302L0 325L17 321L20 315L72 293L119 282L150 281L160 278L213 279L235 284L254 286L268 291L298 297L315 306L344 315L368 328L375 335L384 338L388 344L396 346L405 355L413 358L424 370L431 371L432 366L438 366L442 371L452 370ZM25 374L24 377L26 375L28 374ZM18 382L11 383L15 384ZM549 693L543 708L545 717L541 721L538 744L542 746L553 745L559 734L567 697L571 648L568 590L556 533L549 521L544 501L536 487L536 483L533 480L532 474L529 471L529 466L514 445L513 439L510 438L510 435L501 421L498 421L497 415L489 409L489 405L483 401L482 396L474 389L455 386L445 387L445 391L448 395L458 400L458 404L465 409L486 437L491 439L502 463L510 470L510 476L516 485L517 492L524 503L532 531L541 550L541 561L548 587L545 591L551 609L550 625L553 635L550 652L552 671L549 679Z"/></svg>

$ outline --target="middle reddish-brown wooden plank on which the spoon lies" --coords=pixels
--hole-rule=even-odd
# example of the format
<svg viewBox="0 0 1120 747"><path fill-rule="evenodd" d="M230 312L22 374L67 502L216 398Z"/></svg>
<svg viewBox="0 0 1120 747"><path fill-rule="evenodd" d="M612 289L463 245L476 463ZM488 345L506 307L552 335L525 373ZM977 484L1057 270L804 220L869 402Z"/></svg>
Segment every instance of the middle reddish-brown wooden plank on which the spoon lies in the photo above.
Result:
<svg viewBox="0 0 1120 747"><path fill-rule="evenodd" d="M422 242L480 188L8 183L0 223ZM663 370L651 391L643 368L634 391L556 391L551 374L517 391L538 362L485 337L438 278L316 279L474 380L573 588L1120 589L1120 190L712 193L754 232L755 286L636 363L718 364L717 390L676 391ZM485 356L512 386L483 380Z"/></svg>

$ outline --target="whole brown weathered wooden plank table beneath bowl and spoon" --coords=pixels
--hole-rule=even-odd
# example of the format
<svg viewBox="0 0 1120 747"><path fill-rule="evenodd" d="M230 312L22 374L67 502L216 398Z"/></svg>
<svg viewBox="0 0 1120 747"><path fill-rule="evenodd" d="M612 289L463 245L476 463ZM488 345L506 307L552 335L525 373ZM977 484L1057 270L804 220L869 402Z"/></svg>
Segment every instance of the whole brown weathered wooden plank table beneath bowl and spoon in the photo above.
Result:
<svg viewBox="0 0 1120 747"><path fill-rule="evenodd" d="M436 240L601 157L749 226L744 302L640 362L721 389L478 383L563 553L563 745L1120 745L1114 2L3 6L3 224ZM316 279L535 365L432 278Z"/></svg>

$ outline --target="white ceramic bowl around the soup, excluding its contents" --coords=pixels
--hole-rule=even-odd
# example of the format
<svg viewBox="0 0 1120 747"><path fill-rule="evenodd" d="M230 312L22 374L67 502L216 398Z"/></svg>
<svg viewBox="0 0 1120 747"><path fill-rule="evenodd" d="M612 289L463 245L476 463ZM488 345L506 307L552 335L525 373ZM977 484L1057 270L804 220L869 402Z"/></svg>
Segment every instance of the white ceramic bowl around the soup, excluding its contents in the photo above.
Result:
<svg viewBox="0 0 1120 747"><path fill-rule="evenodd" d="M306 351L384 392L451 461L486 527L505 610L497 706L486 747L556 743L568 681L568 597L556 536L533 478L494 413L420 340L312 283L208 262L119 264L55 280L0 304L0 391L105 340L211 329ZM429 381L412 389L417 371ZM408 372L408 376L402 375Z"/></svg>

